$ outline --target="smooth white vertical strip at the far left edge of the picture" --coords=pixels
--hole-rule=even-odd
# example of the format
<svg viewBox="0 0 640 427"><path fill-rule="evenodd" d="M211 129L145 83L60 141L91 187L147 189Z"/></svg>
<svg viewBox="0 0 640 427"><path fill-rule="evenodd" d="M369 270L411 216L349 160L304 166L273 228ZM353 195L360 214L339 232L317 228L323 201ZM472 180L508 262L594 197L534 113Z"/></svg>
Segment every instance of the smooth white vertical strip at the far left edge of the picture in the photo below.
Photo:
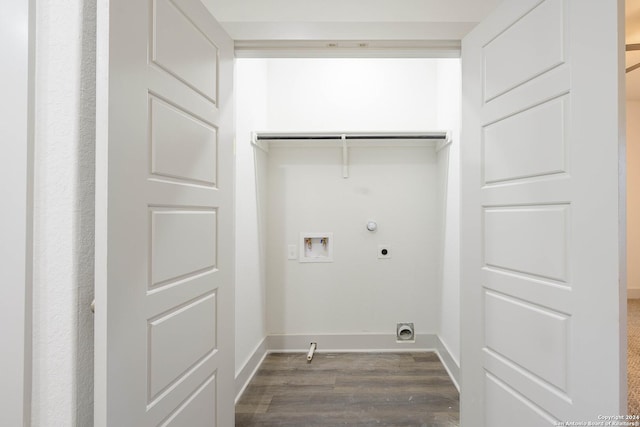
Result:
<svg viewBox="0 0 640 427"><path fill-rule="evenodd" d="M10 60L0 81L4 99L0 107L7 119L0 128L3 141L0 182L6 183L0 234L6 238L9 261L3 268L0 286L0 322L10 325L3 339L12 351L1 362L8 374L2 387L0 424L31 424L32 391L32 272L33 272L33 186L34 186L34 91L35 91L35 3L10 1L0 17L0 54ZM10 105L9 105L10 104ZM4 161L2 160L4 159ZM11 285L11 286L7 286Z"/></svg>

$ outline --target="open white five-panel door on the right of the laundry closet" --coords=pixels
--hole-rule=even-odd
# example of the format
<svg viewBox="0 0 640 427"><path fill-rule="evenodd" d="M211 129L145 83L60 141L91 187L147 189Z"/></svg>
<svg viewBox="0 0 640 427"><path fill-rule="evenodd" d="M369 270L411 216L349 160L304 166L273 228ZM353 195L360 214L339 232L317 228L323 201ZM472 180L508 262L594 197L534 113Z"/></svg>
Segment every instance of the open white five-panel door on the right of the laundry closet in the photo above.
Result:
<svg viewBox="0 0 640 427"><path fill-rule="evenodd" d="M506 0L463 40L465 427L626 411L621 7Z"/></svg>

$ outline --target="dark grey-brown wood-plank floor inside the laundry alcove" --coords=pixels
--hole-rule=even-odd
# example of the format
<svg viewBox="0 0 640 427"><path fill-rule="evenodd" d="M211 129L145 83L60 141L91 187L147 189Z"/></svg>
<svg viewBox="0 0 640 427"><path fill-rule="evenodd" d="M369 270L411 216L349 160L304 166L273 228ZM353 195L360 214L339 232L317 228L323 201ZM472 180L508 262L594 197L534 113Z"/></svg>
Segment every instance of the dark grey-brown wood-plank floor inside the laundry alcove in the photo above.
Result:
<svg viewBox="0 0 640 427"><path fill-rule="evenodd" d="M268 355L236 426L459 425L458 391L435 353Z"/></svg>

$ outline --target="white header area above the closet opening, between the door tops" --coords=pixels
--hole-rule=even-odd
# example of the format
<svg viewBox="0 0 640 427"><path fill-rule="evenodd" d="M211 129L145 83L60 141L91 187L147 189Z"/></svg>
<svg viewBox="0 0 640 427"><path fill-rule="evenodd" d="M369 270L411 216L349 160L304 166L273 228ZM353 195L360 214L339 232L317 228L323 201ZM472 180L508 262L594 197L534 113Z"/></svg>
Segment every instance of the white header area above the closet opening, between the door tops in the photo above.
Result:
<svg viewBox="0 0 640 427"><path fill-rule="evenodd" d="M203 0L235 40L460 40L501 0Z"/></svg>

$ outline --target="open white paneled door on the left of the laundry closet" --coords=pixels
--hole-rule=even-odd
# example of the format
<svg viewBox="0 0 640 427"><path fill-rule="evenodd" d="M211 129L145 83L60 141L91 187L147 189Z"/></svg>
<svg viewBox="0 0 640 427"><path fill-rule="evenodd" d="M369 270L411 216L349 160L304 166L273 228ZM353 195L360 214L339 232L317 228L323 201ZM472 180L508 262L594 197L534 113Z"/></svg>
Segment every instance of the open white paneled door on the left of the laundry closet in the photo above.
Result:
<svg viewBox="0 0 640 427"><path fill-rule="evenodd" d="M233 42L199 0L98 25L95 425L232 426Z"/></svg>

